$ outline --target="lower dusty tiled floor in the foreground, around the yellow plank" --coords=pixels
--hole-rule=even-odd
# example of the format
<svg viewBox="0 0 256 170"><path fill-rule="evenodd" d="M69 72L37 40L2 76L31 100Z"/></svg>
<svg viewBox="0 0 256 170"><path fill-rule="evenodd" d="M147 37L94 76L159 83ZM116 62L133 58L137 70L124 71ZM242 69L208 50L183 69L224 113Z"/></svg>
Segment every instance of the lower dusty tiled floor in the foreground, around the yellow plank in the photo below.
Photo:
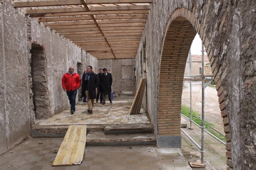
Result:
<svg viewBox="0 0 256 170"><path fill-rule="evenodd" d="M86 146L81 165L52 167L63 138L30 138L0 156L3 170L188 170L180 149ZM39 144L41 143L42 144ZM56 151L55 151L56 150Z"/></svg>

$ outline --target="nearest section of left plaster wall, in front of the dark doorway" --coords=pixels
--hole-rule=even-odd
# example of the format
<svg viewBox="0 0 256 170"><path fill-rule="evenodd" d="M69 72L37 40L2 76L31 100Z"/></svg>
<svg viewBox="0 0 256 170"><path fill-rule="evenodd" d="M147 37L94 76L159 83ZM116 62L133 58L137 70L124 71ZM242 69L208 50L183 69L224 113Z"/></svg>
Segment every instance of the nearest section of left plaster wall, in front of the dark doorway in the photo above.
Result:
<svg viewBox="0 0 256 170"><path fill-rule="evenodd" d="M0 3L0 154L30 134L27 39L26 18Z"/></svg>

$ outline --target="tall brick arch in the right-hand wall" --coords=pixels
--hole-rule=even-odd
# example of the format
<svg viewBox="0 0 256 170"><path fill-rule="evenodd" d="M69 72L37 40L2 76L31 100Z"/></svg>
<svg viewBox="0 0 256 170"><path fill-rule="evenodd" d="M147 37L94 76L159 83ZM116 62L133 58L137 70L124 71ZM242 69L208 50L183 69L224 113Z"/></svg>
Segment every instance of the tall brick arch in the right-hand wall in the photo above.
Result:
<svg viewBox="0 0 256 170"><path fill-rule="evenodd" d="M186 8L176 9L167 22L162 51L158 84L158 147L181 147L180 110L184 71L191 43L198 33L206 47L218 91L221 116L226 133L227 165L232 168L231 137L226 101L221 86L217 59L213 57L211 45L197 18Z"/></svg>

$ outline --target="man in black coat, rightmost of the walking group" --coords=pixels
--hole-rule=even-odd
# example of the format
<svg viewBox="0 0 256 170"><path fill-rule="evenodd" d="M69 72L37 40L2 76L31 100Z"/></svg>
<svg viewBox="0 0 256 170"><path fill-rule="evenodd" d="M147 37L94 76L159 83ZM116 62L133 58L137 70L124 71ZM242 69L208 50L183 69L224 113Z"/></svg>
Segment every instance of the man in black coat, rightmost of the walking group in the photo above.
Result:
<svg viewBox="0 0 256 170"><path fill-rule="evenodd" d="M101 92L102 92L102 99L103 103L102 105L105 105L106 103L106 95L108 94L108 99L110 103L112 103L111 100L111 86L112 86L112 75L111 73L106 71L106 68L103 69L103 74L101 74Z"/></svg>

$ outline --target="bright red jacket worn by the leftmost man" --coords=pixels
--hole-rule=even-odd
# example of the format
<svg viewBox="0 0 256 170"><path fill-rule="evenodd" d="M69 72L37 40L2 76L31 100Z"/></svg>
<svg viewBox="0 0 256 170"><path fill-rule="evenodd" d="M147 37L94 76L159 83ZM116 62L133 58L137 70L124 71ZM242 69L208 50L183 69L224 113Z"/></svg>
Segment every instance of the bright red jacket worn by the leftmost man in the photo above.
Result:
<svg viewBox="0 0 256 170"><path fill-rule="evenodd" d="M69 71L66 72L62 79L62 87L67 91L74 91L75 89L79 89L81 85L81 78L79 74L73 72L72 75L69 74Z"/></svg>

